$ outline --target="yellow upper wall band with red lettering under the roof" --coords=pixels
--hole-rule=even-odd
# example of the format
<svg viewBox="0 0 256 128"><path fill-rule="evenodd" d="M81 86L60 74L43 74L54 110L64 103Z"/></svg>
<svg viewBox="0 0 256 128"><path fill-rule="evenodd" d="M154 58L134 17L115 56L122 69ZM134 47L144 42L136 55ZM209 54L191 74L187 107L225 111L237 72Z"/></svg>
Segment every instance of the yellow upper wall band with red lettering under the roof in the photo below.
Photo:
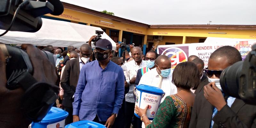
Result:
<svg viewBox="0 0 256 128"><path fill-rule="evenodd" d="M182 36L190 37L222 37L222 38L241 38L241 39L256 39L256 30L220 30L220 29L169 29L169 28L144 28L136 25L131 25L123 22L117 22L107 18L99 17L96 15L79 12L76 10L71 10L64 8L64 12L59 16L54 16L51 14L46 14L46 16L71 20L71 22L82 22L87 23L87 25L101 26L109 29L122 30L132 33L137 33L141 35L159 35L165 36L166 39L161 44L165 42L174 42L180 44L180 38ZM113 24L100 22L107 21ZM209 34L208 32L217 33L227 33L227 34ZM107 33L109 35L109 33ZM167 37L171 36L171 37ZM179 37L172 37L179 36ZM177 39L176 39L177 38ZM198 42L197 38L189 39L186 38L186 43ZM182 41L181 41L182 43Z"/></svg>

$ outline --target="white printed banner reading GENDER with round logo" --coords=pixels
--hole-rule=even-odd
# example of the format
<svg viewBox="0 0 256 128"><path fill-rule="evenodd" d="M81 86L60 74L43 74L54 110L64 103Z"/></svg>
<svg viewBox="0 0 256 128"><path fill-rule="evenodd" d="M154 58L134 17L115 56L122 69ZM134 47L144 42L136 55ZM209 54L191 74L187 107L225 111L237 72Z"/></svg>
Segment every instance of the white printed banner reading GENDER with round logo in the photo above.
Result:
<svg viewBox="0 0 256 128"><path fill-rule="evenodd" d="M159 45L157 53L166 55L172 62L172 69L181 62L188 61L188 57L196 55L204 61L204 67L207 68L208 60L212 52L222 46L235 47L244 60L246 55L251 51L252 45L256 40L237 41L234 43L193 43L193 44L174 44L174 45Z"/></svg>

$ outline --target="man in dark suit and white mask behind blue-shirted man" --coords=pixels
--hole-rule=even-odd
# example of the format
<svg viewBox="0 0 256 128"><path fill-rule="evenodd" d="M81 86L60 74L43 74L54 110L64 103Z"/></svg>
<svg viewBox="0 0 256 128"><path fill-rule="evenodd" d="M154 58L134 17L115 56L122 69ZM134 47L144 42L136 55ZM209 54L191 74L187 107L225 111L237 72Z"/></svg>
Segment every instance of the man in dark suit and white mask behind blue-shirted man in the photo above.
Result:
<svg viewBox="0 0 256 128"><path fill-rule="evenodd" d="M75 49L73 52L69 52L69 57L76 59L68 60L66 67L62 70L60 85L64 90L62 104L65 106L65 110L68 112L68 117L65 120L65 125L73 122L73 106L74 93L76 92L76 85L78 82L80 70L84 64L89 63L89 58L92 54L92 47L88 44L83 44L80 47L80 56L77 57Z"/></svg>

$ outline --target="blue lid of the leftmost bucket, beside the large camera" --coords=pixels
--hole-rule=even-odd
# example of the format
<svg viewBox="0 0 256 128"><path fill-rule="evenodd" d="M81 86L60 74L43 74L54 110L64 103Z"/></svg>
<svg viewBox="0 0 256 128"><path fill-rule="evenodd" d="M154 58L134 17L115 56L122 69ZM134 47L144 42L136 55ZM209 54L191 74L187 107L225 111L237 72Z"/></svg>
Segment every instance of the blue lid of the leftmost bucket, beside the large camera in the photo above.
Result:
<svg viewBox="0 0 256 128"><path fill-rule="evenodd" d="M61 119L65 119L67 116L68 112L60 108L52 107L40 123L50 123L59 120L61 121Z"/></svg>

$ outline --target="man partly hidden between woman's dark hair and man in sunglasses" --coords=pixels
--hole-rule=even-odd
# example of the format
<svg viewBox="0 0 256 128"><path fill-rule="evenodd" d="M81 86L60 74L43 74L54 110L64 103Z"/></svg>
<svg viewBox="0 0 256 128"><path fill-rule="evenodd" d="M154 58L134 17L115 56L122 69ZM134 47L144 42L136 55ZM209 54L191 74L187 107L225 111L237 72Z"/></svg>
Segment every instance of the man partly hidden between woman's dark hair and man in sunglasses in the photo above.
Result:
<svg viewBox="0 0 256 128"><path fill-rule="evenodd" d="M204 61L200 58L195 58L194 60L192 60L193 63L196 64L196 67L198 68L199 72L200 72L200 79L201 82L200 84L197 86L196 90L192 90L192 92L194 92L195 94L198 94L199 92L203 92L204 91L204 85L209 83L209 80L207 78L207 76L204 74Z"/></svg>

